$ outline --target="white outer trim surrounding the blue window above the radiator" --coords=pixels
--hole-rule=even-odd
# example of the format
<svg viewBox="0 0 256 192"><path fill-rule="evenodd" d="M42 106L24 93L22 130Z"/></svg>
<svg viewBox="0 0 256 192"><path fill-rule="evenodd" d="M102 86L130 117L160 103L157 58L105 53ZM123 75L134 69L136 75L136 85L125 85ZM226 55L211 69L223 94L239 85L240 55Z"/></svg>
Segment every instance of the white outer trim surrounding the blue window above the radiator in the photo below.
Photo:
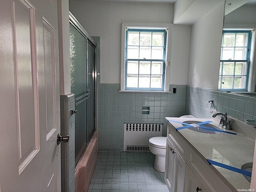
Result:
<svg viewBox="0 0 256 192"><path fill-rule="evenodd" d="M163 91L142 91L142 90L125 90L125 44L126 44L126 29L165 29L166 34L166 64L164 76L164 90ZM121 87L120 92L170 92L170 55L171 55L171 30L172 24L166 23L122 23L122 42L121 42Z"/></svg>

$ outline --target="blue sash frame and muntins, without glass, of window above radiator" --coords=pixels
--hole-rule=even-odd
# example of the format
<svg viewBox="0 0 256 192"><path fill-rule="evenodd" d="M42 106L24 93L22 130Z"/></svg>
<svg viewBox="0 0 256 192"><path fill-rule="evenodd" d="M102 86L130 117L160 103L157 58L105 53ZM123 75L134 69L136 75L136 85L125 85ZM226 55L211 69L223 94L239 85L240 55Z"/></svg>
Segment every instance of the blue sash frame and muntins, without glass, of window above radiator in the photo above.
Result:
<svg viewBox="0 0 256 192"><path fill-rule="evenodd" d="M140 35L139 35L139 45L128 45L128 32L161 32L163 33L163 46L153 46L152 45L152 36L151 36L151 45L145 46L145 45L140 45ZM140 33L139 33L140 34ZM139 49L139 58L138 59L128 59L127 58L127 52L128 52L128 46L135 46L138 47ZM140 47L150 47L151 48L151 57L152 57L152 48L154 47L162 47L163 48L163 55L162 55L162 59L140 59ZM139 70L138 70L138 74L129 74L127 73L127 63L129 61L138 61L138 64L140 64L140 62L150 62L150 74L139 74ZM165 64L166 64L166 31L165 30L148 30L148 29L128 29L126 30L126 45L125 45L125 90L149 90L149 91L163 91L164 90L164 76L165 76ZM162 62L162 74L152 74L151 72L151 68L152 68L152 62ZM139 67L139 66L138 66ZM134 87L127 87L127 76L128 75L138 75L138 87L134 88ZM149 88L139 88L139 76L140 75L145 75L145 76L150 76L150 87ZM152 76L162 76L162 84L161 84L161 88L151 88L151 77Z"/></svg>

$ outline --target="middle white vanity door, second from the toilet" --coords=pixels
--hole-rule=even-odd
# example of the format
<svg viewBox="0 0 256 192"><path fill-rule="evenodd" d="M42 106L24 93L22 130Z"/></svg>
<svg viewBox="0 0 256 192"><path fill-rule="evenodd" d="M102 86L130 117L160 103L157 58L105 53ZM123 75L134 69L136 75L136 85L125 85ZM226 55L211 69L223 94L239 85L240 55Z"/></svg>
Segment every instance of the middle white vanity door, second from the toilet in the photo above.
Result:
<svg viewBox="0 0 256 192"><path fill-rule="evenodd" d="M174 156L174 169L175 169L175 178L174 178L174 188L175 192L183 192L185 184L185 172L186 172L186 163L176 151L173 151Z"/></svg>

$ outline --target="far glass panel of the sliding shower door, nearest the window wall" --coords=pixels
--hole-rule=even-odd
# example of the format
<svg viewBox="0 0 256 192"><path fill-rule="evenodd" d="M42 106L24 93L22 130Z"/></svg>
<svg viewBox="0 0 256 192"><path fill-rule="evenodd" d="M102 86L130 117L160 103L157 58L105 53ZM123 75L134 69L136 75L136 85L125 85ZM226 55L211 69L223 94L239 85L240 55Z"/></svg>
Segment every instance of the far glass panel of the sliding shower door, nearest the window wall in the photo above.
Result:
<svg viewBox="0 0 256 192"><path fill-rule="evenodd" d="M90 92L90 98L88 99L88 108L87 108L87 142L92 136L94 131L94 120L95 120L95 100L94 100L94 91L95 91L95 74L94 74L94 65L95 65L95 50L94 46L88 43L88 92Z"/></svg>

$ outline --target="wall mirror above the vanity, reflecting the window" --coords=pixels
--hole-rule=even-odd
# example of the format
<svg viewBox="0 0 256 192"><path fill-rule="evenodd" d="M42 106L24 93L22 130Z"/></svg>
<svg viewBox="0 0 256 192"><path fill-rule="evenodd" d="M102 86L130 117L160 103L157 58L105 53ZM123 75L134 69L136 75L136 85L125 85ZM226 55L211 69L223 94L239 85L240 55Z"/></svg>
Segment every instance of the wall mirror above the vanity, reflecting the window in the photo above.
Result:
<svg viewBox="0 0 256 192"><path fill-rule="evenodd" d="M256 0L226 0L218 90L256 97Z"/></svg>

